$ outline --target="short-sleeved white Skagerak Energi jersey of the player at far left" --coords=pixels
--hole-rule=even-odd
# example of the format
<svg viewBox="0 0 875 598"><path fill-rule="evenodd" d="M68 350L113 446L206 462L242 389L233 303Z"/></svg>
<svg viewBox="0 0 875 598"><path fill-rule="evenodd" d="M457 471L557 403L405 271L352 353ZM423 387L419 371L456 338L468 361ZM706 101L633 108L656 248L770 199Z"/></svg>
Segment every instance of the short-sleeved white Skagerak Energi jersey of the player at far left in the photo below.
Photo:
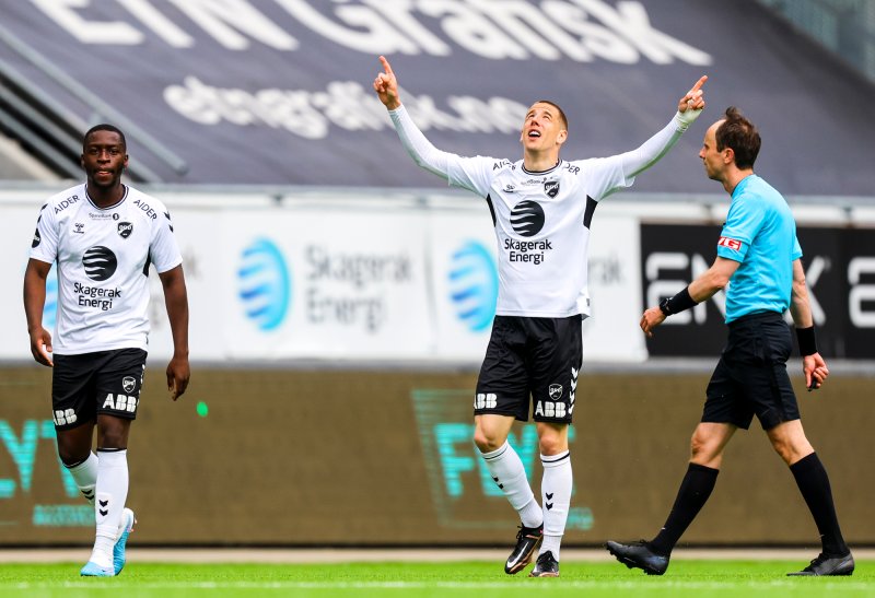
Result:
<svg viewBox="0 0 875 598"><path fill-rule="evenodd" d="M149 265L166 272L183 261L170 218L161 201L127 186L109 208L84 184L43 206L31 258L58 267L55 353L147 350Z"/></svg>

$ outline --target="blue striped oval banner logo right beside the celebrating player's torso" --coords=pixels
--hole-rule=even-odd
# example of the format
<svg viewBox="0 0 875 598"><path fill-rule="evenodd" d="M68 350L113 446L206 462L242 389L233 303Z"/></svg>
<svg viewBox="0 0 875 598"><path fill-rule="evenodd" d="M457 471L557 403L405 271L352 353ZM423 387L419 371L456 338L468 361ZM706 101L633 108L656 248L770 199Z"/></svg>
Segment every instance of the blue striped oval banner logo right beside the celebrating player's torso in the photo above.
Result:
<svg viewBox="0 0 875 598"><path fill-rule="evenodd" d="M480 243L469 241L453 254L447 278L456 317L474 332L487 330L495 317L499 296L492 255Z"/></svg>

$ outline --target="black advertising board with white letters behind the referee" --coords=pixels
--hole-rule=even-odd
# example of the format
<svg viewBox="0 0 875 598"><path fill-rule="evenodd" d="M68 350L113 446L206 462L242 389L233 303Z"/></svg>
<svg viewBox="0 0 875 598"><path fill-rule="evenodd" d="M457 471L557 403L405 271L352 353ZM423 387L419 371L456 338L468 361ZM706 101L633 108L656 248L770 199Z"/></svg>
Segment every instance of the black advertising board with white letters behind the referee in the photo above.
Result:
<svg viewBox="0 0 875 598"><path fill-rule="evenodd" d="M708 270L720 225L642 224L643 302L658 304ZM875 234L865 228L801 226L817 343L826 357L875 357ZM719 355L726 338L725 294L673 316L648 339L652 356ZM785 315L792 321L790 314Z"/></svg>

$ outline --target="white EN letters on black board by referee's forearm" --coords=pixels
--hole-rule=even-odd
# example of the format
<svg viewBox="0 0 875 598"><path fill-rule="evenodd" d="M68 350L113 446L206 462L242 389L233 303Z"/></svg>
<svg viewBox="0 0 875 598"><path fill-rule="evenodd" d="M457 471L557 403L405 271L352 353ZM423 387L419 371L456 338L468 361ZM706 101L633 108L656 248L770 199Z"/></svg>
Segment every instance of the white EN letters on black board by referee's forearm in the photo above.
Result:
<svg viewBox="0 0 875 598"><path fill-rule="evenodd" d="M654 251L649 255L644 262L644 275L648 278L648 307L657 305L663 297L674 296L675 293L689 284L686 280L661 280L660 275L662 271L686 270L687 268L690 268L690 280L695 280L699 274L708 271L709 265L705 259L698 254L693 254L692 257L676 251ZM718 307L721 317L725 317L725 291L718 291L714 293L711 301ZM705 306L707 302L703 301L691 309L686 309L670 318L666 318L663 324L673 326L687 325L691 321L704 324L708 320L708 309Z"/></svg>

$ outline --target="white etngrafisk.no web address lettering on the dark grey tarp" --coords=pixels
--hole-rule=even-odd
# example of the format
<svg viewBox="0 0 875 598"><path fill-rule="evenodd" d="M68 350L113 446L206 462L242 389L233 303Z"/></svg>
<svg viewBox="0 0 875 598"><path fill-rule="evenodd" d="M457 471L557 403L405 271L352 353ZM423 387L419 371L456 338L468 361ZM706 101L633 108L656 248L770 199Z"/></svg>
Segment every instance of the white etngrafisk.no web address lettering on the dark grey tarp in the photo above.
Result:
<svg viewBox="0 0 875 598"><path fill-rule="evenodd" d="M268 126L305 139L328 137L330 125L348 131L392 127L380 101L353 81L334 81L325 92L271 89L250 93L213 87L196 77L186 77L184 85L164 90L164 101L180 115L201 125ZM518 134L526 110L523 104L504 97L485 101L451 96L446 102L458 114L439 109L428 95L405 92L405 105L423 131Z"/></svg>

